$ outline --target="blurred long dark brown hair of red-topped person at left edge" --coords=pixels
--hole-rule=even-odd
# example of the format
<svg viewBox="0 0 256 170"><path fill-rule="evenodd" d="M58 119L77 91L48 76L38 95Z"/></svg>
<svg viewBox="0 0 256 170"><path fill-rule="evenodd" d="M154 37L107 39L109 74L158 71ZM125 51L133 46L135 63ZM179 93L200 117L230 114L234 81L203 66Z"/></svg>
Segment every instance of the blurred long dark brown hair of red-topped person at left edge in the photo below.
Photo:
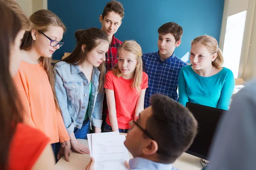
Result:
<svg viewBox="0 0 256 170"><path fill-rule="evenodd" d="M8 169L9 146L17 122L22 122L21 104L9 71L10 45L21 29L17 15L0 2L0 169Z"/></svg>

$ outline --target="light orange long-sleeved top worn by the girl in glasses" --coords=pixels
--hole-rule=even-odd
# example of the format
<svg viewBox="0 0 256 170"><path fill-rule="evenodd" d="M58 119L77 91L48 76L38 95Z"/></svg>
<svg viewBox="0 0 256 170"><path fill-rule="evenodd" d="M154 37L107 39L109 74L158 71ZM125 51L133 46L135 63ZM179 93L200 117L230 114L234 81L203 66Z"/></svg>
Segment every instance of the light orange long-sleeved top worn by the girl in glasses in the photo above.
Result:
<svg viewBox="0 0 256 170"><path fill-rule="evenodd" d="M44 132L51 144L70 140L41 64L21 62L14 82L23 105L24 123Z"/></svg>

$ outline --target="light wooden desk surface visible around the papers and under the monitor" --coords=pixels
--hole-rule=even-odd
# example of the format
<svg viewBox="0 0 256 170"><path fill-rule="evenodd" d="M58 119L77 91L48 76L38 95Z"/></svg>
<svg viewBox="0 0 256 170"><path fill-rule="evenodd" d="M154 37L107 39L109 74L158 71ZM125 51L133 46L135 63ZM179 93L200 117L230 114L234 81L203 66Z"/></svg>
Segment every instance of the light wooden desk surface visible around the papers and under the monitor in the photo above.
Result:
<svg viewBox="0 0 256 170"><path fill-rule="evenodd" d="M120 133L121 135L126 135L126 133ZM88 147L88 141L85 139L78 139L82 144ZM129 153L130 159L132 159L131 153ZM64 156L55 164L55 170L85 170L86 165L90 161L90 154L79 154L77 152L72 152L70 161L67 162ZM200 164L200 158L189 155L188 153L183 153L180 158L178 158L173 167L179 170L201 170L202 166Z"/></svg>

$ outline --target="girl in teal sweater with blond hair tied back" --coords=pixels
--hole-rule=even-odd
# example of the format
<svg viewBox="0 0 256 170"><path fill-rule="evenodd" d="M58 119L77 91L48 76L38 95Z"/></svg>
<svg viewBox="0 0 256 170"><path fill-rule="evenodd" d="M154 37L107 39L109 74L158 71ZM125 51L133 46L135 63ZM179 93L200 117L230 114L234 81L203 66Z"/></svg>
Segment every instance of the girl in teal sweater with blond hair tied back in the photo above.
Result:
<svg viewBox="0 0 256 170"><path fill-rule="evenodd" d="M192 41L191 65L180 69L178 101L228 110L235 88L232 71L222 67L224 59L214 37L203 35Z"/></svg>

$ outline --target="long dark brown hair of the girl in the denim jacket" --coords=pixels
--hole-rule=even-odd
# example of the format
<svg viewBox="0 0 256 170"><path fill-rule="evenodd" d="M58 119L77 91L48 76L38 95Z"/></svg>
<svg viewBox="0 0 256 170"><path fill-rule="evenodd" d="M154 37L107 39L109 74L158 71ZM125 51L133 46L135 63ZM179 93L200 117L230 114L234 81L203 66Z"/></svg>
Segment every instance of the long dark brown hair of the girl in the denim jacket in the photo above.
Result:
<svg viewBox="0 0 256 170"><path fill-rule="evenodd" d="M96 48L102 42L108 42L107 35L99 28L88 28L85 30L79 29L75 33L76 48L62 61L73 65L81 65L85 62L86 56L90 51ZM84 52L82 51L82 45L85 45ZM98 67L99 74L99 92L104 93L104 79L106 74L105 62L103 61Z"/></svg>

